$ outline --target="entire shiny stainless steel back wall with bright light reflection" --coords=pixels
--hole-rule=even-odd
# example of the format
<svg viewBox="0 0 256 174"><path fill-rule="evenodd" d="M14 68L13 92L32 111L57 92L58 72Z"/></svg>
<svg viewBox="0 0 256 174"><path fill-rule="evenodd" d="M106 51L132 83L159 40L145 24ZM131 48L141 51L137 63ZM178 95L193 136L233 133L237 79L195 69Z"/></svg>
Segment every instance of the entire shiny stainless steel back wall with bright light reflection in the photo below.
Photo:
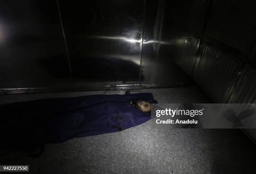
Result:
<svg viewBox="0 0 256 174"><path fill-rule="evenodd" d="M0 3L2 91L191 83L202 0Z"/></svg>

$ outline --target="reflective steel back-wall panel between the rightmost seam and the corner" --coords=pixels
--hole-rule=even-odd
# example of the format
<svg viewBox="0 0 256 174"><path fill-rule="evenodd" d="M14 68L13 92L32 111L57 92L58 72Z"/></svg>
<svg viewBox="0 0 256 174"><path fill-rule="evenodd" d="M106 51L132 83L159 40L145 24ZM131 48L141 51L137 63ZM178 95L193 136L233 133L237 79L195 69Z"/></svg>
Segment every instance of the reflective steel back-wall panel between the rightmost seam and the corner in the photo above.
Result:
<svg viewBox="0 0 256 174"><path fill-rule="evenodd" d="M190 83L208 8L203 0L146 1L142 84Z"/></svg>

